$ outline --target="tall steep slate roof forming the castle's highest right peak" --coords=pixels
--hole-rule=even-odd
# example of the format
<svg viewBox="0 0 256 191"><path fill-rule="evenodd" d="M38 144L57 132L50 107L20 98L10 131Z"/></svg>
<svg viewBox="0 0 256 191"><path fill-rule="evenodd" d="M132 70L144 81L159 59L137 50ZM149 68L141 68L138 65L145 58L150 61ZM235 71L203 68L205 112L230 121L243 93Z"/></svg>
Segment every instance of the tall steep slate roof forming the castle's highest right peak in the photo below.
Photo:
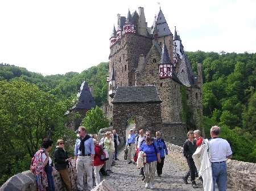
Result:
<svg viewBox="0 0 256 191"><path fill-rule="evenodd" d="M158 30L156 31L158 34L158 37L172 35L170 28L168 27L168 24L166 22L166 18L164 18L164 15L161 9L158 12L158 15L155 17L154 23L152 24L151 34L155 34L155 28L157 28Z"/></svg>

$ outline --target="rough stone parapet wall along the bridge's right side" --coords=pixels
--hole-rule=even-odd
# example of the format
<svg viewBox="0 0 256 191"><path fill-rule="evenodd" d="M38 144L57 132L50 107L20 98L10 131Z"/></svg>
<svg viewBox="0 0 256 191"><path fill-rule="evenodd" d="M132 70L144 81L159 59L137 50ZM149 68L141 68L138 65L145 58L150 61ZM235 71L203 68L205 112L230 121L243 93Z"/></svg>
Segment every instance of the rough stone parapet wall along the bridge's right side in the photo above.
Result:
<svg viewBox="0 0 256 191"><path fill-rule="evenodd" d="M168 154L175 162L188 168L187 161L183 156L183 147L166 142ZM238 160L227 160L228 188L234 191L256 190L256 164Z"/></svg>

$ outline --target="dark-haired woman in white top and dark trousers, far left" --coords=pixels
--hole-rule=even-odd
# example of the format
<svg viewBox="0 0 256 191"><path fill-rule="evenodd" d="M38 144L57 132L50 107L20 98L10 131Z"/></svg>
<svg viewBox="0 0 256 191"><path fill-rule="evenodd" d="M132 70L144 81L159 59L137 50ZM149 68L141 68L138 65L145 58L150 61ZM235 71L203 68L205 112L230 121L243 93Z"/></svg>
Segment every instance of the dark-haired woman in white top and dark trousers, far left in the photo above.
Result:
<svg viewBox="0 0 256 191"><path fill-rule="evenodd" d="M46 188L47 191L55 191L55 186L52 177L52 159L49 157L49 151L52 149L53 141L49 138L44 138L42 147L45 148L45 152L42 153L42 160L44 171L46 171L47 180L48 180L48 187Z"/></svg>

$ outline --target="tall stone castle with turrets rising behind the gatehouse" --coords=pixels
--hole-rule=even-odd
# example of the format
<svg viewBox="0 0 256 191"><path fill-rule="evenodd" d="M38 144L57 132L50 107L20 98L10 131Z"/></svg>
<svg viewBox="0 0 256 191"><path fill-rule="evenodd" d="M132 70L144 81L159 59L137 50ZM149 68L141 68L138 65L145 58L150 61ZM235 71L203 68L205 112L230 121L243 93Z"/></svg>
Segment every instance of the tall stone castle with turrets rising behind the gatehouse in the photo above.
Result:
<svg viewBox="0 0 256 191"><path fill-rule="evenodd" d="M117 29L110 37L108 104L105 113L113 116L115 92L122 86L154 85L161 103L163 123L186 122L202 129L201 64L193 75L176 27L174 35L160 9L147 27L143 7L127 17L117 15ZM185 116L185 117L184 117Z"/></svg>

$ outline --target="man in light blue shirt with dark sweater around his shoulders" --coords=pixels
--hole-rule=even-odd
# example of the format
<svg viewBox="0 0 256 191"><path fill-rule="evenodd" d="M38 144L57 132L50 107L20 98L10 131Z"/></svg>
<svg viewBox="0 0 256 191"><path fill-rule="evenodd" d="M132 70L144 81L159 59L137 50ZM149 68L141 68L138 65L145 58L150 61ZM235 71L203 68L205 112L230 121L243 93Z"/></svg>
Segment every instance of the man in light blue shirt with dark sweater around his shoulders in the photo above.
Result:
<svg viewBox="0 0 256 191"><path fill-rule="evenodd" d="M84 126L79 127L79 138L75 145L75 164L77 171L77 189L84 190L84 172L87 176L88 189L93 189L92 169L94 164L94 143L92 137L86 134Z"/></svg>

